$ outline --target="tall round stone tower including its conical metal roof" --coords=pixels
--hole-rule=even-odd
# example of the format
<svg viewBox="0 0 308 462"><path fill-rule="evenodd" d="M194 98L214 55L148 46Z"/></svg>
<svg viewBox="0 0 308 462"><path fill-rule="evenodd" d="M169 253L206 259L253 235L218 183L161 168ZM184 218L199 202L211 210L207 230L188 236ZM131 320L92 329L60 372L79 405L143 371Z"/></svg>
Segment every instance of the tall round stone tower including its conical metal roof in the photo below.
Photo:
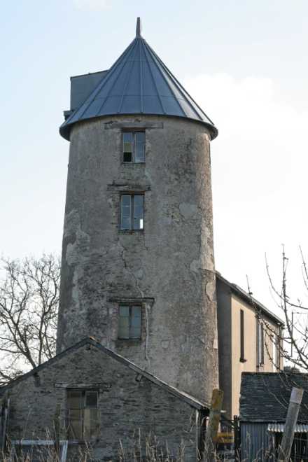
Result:
<svg viewBox="0 0 308 462"><path fill-rule="evenodd" d="M141 36L71 78L57 351L93 336L209 401L218 384L216 127Z"/></svg>

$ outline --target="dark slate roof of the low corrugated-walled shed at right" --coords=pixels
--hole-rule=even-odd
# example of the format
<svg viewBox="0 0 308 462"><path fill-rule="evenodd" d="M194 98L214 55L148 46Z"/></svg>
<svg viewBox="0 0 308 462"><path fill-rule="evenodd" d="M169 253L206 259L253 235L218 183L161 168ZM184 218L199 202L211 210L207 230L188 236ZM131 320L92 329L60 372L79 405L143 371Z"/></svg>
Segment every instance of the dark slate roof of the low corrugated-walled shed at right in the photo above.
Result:
<svg viewBox="0 0 308 462"><path fill-rule="evenodd" d="M304 388L297 422L308 422L308 374L298 372L243 372L239 418L247 422L285 421L293 386Z"/></svg>

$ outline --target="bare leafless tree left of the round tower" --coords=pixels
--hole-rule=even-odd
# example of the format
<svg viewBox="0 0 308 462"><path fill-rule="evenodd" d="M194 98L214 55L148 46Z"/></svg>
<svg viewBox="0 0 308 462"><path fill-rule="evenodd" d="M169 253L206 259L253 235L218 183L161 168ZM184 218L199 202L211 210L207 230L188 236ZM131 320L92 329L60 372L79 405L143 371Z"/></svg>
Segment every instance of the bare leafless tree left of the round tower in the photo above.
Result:
<svg viewBox="0 0 308 462"><path fill-rule="evenodd" d="M55 355L59 258L1 259L0 384Z"/></svg>

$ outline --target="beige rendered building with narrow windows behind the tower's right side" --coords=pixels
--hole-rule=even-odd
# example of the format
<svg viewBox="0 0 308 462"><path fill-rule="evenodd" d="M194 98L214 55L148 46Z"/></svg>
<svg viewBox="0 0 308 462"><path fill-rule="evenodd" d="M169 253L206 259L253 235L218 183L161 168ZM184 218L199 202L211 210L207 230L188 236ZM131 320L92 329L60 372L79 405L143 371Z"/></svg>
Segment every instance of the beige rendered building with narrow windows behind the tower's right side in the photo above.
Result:
<svg viewBox="0 0 308 462"><path fill-rule="evenodd" d="M216 272L219 381L228 419L239 414L241 372L277 372L283 321Z"/></svg>

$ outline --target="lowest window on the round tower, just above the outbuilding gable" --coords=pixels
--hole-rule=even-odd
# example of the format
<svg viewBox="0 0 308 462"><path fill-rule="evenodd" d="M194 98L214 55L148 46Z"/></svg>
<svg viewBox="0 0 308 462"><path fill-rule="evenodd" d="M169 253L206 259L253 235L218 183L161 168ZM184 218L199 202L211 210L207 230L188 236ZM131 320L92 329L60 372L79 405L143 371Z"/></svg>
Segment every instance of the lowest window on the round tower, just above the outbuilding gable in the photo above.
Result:
<svg viewBox="0 0 308 462"><path fill-rule="evenodd" d="M138 304L120 304L119 306L119 339L141 338L141 306Z"/></svg>

